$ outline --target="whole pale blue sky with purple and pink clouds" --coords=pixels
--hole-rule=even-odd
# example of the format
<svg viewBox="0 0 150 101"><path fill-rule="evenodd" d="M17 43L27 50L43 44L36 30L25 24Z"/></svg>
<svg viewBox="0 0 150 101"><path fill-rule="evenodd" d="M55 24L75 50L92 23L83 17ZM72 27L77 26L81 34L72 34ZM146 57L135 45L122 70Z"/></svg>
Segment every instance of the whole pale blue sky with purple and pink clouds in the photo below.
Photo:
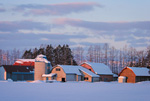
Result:
<svg viewBox="0 0 150 101"><path fill-rule="evenodd" d="M1 0L0 49L150 45L150 0Z"/></svg>

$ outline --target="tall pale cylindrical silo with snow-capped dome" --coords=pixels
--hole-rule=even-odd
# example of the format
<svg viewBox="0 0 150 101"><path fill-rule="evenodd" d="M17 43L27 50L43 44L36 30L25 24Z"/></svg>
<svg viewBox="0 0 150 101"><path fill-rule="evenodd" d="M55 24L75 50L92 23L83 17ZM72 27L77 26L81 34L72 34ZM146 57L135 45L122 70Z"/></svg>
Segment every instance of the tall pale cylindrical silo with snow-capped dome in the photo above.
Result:
<svg viewBox="0 0 150 101"><path fill-rule="evenodd" d="M43 80L42 75L48 74L50 71L50 62L45 55L38 55L34 64L34 80Z"/></svg>

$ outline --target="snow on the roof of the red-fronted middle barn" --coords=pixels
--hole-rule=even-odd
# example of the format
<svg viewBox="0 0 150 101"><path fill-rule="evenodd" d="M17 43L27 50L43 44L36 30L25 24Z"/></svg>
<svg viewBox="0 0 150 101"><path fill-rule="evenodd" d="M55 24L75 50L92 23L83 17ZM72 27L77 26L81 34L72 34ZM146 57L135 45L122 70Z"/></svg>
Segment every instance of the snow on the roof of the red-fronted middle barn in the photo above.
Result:
<svg viewBox="0 0 150 101"><path fill-rule="evenodd" d="M88 64L89 66L91 66L93 68L93 70L95 71L95 73L97 73L97 74L113 75L110 68L103 63L92 63L92 62L85 62L85 63Z"/></svg>

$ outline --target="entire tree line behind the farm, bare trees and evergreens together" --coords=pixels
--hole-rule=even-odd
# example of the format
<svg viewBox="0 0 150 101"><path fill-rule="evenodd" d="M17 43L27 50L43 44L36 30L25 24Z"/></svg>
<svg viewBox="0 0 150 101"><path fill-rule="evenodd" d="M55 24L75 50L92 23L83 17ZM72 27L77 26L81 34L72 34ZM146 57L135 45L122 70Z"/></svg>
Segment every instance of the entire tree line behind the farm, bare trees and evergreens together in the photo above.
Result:
<svg viewBox="0 0 150 101"><path fill-rule="evenodd" d="M122 49L104 45L91 45L89 47L76 47L71 50L69 45L41 45L39 48L24 50L17 49L5 51L0 49L0 65L12 65L17 59L34 59L37 55L46 55L52 66L79 65L82 62L104 63L113 73L119 73L124 67L150 66L150 46L146 50L136 50L124 46Z"/></svg>

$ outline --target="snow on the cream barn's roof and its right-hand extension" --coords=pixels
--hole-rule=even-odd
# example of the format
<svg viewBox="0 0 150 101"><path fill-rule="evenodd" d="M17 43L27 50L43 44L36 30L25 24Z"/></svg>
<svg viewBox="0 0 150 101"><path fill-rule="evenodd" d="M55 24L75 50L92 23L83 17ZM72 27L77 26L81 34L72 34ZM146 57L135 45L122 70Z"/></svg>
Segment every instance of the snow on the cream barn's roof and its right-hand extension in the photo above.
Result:
<svg viewBox="0 0 150 101"><path fill-rule="evenodd" d="M80 70L81 70L82 72L85 72L85 73L89 74L89 75L92 76L92 77L99 77L98 75L94 74L93 72L91 72L91 71L88 70L88 69L85 69L85 68L82 67L82 66L72 66L72 65L58 65L58 66L62 67L63 70L64 70L64 72L65 72L66 74L82 75L82 74L80 73Z"/></svg>

